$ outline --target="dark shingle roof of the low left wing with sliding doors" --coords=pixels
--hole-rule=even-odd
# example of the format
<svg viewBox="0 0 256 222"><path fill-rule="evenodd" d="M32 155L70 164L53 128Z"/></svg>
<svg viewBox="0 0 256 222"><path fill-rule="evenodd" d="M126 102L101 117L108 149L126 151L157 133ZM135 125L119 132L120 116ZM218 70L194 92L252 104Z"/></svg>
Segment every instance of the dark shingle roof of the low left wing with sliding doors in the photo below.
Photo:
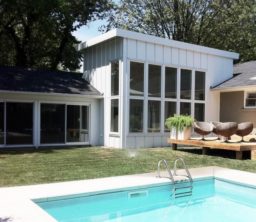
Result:
<svg viewBox="0 0 256 222"><path fill-rule="evenodd" d="M82 73L0 66L0 90L101 95Z"/></svg>

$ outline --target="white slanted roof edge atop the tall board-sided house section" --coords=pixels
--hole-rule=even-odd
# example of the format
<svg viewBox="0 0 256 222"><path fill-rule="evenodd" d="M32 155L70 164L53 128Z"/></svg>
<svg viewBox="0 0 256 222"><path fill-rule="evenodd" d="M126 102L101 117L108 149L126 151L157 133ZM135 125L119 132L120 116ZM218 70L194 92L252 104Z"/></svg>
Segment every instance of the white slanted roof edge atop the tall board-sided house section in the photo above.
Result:
<svg viewBox="0 0 256 222"><path fill-rule="evenodd" d="M229 58L233 58L233 59L239 58L238 53L228 52L228 51L224 51L224 50L217 50L217 49L213 49L213 48L209 48L209 47L205 47L205 46L198 46L198 45L194 45L194 44L190 44L190 43L186 43L186 42L179 42L179 41L170 40L170 39L166 39L166 38L160 38L160 37L156 37L156 36L150 36L150 35L146 35L146 34L142 34L142 33L138 33L138 32L122 30L119 28L116 28L116 29L106 32L100 36L92 38L86 42L78 44L76 46L76 50L82 51L85 48L94 46L96 44L108 41L108 40L116 38L116 37L130 38L130 39L165 45L165 46L172 46L172 47L177 47L177 48L181 48L181 49L192 50L192 51L196 51L196 52L203 52L203 53L208 53L208 54L212 54L212 55L229 57Z"/></svg>

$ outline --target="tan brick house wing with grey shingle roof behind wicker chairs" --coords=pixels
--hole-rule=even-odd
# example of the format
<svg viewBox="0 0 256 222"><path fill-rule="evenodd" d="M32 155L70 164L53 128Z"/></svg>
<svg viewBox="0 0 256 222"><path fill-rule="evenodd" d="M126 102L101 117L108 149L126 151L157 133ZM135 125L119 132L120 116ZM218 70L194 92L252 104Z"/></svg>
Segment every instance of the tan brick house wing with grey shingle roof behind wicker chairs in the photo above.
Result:
<svg viewBox="0 0 256 222"><path fill-rule="evenodd" d="M256 135L256 61L234 65L233 73L212 88L220 93L220 121L252 122Z"/></svg>

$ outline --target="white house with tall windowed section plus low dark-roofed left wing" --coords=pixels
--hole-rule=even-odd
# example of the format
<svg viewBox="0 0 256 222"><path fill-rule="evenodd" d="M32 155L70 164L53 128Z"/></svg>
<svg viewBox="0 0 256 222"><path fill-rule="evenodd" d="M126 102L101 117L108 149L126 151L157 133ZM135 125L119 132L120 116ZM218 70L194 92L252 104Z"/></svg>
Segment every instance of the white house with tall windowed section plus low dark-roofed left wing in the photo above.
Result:
<svg viewBox="0 0 256 222"><path fill-rule="evenodd" d="M120 29L77 50L82 75L1 68L0 146L166 147L174 113L224 118L218 87L236 53Z"/></svg>

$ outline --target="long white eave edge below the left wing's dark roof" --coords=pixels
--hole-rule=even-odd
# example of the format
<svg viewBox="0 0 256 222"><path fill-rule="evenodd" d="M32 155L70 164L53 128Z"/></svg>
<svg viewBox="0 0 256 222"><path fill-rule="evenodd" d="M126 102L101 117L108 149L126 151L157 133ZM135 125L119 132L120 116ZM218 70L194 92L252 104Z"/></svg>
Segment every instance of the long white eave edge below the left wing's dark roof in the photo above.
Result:
<svg viewBox="0 0 256 222"><path fill-rule="evenodd" d="M23 95L62 96L62 97L80 97L80 98L95 98L95 99L102 99L103 98L103 95L66 94L66 93L40 93L40 92L8 91L8 90L0 90L0 93L23 94Z"/></svg>

